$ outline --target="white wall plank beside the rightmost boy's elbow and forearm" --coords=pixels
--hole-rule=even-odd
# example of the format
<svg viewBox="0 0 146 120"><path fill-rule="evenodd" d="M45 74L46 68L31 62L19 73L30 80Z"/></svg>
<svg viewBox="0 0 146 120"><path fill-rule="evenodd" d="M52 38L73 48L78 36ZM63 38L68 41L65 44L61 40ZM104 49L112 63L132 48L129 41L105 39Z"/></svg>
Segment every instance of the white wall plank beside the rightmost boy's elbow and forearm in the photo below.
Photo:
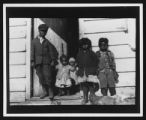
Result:
<svg viewBox="0 0 146 120"><path fill-rule="evenodd" d="M116 69L118 72L135 71L135 58L116 59Z"/></svg>

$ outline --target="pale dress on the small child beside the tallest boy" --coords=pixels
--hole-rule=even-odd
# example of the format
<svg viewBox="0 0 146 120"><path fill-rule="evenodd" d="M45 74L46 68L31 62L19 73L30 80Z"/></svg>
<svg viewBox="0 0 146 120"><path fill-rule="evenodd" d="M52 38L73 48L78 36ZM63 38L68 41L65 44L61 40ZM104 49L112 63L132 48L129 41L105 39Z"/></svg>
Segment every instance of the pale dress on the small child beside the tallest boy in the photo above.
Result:
<svg viewBox="0 0 146 120"><path fill-rule="evenodd" d="M58 69L57 76L56 76L56 83L55 86L59 88L65 88L71 86L71 80L69 75L70 66L66 65L63 66L59 64L56 66Z"/></svg>

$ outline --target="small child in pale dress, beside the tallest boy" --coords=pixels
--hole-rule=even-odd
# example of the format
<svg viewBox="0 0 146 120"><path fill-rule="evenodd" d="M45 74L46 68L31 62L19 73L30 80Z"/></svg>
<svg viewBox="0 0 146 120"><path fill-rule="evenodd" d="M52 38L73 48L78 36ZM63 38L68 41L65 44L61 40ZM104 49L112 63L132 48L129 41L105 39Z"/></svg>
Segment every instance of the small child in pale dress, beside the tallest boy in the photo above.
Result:
<svg viewBox="0 0 146 120"><path fill-rule="evenodd" d="M56 66L58 70L56 76L56 87L59 88L59 95L63 95L63 89L69 94L69 88L71 87L71 80L69 76L70 66L68 65L67 56L62 55L60 57L60 64Z"/></svg>

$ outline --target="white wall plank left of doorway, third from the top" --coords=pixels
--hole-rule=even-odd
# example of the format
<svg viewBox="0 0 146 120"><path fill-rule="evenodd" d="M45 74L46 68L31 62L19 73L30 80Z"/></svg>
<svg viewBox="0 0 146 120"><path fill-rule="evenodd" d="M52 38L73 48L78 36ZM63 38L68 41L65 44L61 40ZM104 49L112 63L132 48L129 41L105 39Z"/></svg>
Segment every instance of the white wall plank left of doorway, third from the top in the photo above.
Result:
<svg viewBox="0 0 146 120"><path fill-rule="evenodd" d="M26 51L26 39L10 39L9 52Z"/></svg>

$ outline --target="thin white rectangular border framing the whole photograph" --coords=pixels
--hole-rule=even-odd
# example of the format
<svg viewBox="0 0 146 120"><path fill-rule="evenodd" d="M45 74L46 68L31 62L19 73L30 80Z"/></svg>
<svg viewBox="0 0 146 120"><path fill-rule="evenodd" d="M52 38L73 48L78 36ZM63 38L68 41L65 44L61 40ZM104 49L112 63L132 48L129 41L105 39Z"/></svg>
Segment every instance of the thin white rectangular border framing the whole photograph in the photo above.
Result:
<svg viewBox="0 0 146 120"><path fill-rule="evenodd" d="M140 8L140 113L35 113L35 114L8 114L7 113L7 80L6 80L6 8L8 7L121 7L136 6ZM143 116L143 4L142 3L115 3L115 4L3 4L3 116L4 117L142 117Z"/></svg>

